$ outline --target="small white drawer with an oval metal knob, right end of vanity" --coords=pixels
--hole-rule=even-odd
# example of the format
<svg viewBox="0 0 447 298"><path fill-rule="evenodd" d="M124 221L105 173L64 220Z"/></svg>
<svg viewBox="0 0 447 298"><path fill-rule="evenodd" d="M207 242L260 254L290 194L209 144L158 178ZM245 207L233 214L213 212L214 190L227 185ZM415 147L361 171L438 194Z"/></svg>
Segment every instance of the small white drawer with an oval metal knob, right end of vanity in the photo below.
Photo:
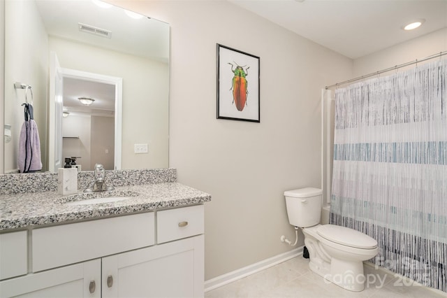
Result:
<svg viewBox="0 0 447 298"><path fill-rule="evenodd" d="M203 234L203 205L156 213L157 243Z"/></svg>

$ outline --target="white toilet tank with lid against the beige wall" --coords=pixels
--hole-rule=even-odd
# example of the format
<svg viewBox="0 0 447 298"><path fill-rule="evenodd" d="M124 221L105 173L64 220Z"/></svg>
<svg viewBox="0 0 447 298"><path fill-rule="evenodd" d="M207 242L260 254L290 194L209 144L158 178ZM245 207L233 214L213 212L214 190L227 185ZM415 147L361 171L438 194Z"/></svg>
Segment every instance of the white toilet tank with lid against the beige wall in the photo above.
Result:
<svg viewBox="0 0 447 298"><path fill-rule="evenodd" d="M284 192L288 222L295 227L312 227L321 219L323 191L319 188L305 187Z"/></svg>

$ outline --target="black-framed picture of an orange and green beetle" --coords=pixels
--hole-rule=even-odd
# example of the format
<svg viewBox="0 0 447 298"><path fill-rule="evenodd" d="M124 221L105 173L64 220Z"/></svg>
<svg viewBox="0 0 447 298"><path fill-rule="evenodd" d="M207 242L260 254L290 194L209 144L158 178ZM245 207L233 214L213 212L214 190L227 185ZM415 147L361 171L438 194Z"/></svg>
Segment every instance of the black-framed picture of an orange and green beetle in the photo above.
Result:
<svg viewBox="0 0 447 298"><path fill-rule="evenodd" d="M259 57L217 43L217 119L260 122Z"/></svg>

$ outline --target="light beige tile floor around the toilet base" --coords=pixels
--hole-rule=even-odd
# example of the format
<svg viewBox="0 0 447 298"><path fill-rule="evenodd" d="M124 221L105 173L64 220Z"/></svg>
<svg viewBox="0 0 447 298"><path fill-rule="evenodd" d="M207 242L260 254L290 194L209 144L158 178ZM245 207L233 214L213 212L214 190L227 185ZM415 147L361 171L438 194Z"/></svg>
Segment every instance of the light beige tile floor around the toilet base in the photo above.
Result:
<svg viewBox="0 0 447 298"><path fill-rule="evenodd" d="M261 272L223 285L205 293L205 298L236 297L361 297L361 298L446 298L447 293L430 290L409 280L394 276L393 272L365 265L365 283L362 292L350 292L314 274L309 261L301 255Z"/></svg>

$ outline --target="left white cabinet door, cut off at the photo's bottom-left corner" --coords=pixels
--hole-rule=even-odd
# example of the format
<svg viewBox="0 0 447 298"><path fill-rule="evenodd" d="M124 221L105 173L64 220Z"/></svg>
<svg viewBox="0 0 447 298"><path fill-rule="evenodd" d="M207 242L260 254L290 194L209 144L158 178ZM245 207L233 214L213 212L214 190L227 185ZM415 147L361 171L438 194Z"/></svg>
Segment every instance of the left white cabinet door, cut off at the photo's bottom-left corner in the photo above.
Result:
<svg viewBox="0 0 447 298"><path fill-rule="evenodd" d="M0 297L101 297L101 260L0 282Z"/></svg>

